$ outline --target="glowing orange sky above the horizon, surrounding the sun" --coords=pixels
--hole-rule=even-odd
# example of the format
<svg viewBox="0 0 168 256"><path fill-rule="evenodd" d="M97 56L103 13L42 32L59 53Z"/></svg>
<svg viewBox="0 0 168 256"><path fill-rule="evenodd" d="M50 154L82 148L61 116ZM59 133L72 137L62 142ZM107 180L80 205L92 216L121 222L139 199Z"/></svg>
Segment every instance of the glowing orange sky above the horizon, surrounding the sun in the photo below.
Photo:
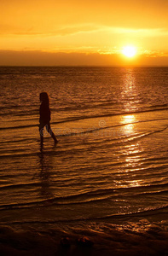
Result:
<svg viewBox="0 0 168 256"><path fill-rule="evenodd" d="M168 0L0 4L0 65L168 67Z"/></svg>

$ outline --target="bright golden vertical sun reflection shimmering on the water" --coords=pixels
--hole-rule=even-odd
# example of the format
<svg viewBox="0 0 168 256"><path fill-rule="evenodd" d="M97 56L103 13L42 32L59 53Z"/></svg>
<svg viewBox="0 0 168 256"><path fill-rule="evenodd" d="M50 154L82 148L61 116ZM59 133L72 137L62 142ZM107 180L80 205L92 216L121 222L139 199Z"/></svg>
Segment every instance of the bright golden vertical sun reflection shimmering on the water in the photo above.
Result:
<svg viewBox="0 0 168 256"><path fill-rule="evenodd" d="M141 187L142 179L139 172L142 170L142 141L139 141L137 129L138 119L136 110L138 109L138 97L136 92L136 80L133 70L125 73L122 98L125 107L125 115L120 119L126 144L121 151L124 156L123 170L125 177L125 187ZM131 112L131 113L129 113ZM127 113L127 114L126 114Z"/></svg>

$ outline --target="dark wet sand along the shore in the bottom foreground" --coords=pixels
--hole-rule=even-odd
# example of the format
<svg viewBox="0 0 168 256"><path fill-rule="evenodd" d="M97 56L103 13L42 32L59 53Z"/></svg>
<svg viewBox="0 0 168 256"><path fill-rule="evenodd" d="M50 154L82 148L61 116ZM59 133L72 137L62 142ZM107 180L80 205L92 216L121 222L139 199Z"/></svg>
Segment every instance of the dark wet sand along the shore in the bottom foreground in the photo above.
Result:
<svg viewBox="0 0 168 256"><path fill-rule="evenodd" d="M0 227L1 256L77 256L77 255L168 255L168 232L151 226L143 232L113 229L110 234L85 231L71 234L55 229L13 230ZM85 234L84 234L85 233ZM65 240L62 240L66 237ZM86 237L87 241L78 241Z"/></svg>

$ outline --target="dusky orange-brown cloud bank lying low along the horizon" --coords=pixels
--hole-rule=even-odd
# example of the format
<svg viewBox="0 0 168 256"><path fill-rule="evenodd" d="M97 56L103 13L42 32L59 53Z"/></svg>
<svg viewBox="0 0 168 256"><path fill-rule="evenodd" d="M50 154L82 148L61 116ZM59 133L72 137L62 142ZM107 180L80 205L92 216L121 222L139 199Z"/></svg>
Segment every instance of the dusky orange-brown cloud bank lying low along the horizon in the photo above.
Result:
<svg viewBox="0 0 168 256"><path fill-rule="evenodd" d="M38 50L0 50L1 66L165 66L167 55L139 55L126 60L117 54L49 53Z"/></svg>

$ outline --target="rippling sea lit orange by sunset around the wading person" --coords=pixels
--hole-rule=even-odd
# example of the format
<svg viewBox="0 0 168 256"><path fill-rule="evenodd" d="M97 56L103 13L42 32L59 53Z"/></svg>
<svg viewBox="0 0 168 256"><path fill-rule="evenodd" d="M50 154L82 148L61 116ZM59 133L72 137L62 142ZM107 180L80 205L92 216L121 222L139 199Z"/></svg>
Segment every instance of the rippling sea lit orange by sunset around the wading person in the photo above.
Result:
<svg viewBox="0 0 168 256"><path fill-rule="evenodd" d="M0 91L1 226L99 244L167 231L167 67L0 67ZM43 148L42 91L59 141Z"/></svg>

